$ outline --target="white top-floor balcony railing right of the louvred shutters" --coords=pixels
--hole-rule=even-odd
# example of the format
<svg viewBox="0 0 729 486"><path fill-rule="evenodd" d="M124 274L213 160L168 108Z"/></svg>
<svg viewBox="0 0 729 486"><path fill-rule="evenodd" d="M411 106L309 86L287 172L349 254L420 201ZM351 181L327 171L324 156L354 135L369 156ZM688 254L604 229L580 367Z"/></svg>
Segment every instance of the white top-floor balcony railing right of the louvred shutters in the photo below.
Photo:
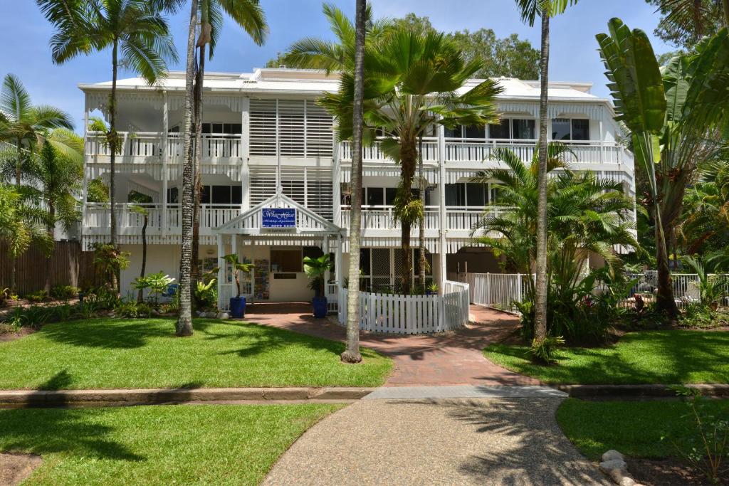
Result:
<svg viewBox="0 0 729 486"><path fill-rule="evenodd" d="M633 154L616 142L607 141L565 141L572 149L574 157L568 162L584 165L633 165ZM426 164L435 164L438 160L437 139L423 139L423 161ZM529 161L534 157L534 148L537 140L516 140L507 138L446 138L445 162L465 162L472 165L475 162L494 162L496 149L511 149L521 160ZM364 162L392 162L381 149L381 141L375 141L372 146L363 150ZM345 141L340 146L340 160L349 162L352 159L351 142Z"/></svg>

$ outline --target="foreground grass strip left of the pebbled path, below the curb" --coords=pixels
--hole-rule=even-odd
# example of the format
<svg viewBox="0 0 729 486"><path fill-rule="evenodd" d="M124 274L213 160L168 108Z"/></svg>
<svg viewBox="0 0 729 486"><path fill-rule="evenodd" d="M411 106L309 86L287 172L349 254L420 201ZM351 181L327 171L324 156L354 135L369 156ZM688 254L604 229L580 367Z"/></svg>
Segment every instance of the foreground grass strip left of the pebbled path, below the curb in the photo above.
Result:
<svg viewBox="0 0 729 486"><path fill-rule="evenodd" d="M0 450L42 455L23 485L256 485L338 405L0 410Z"/></svg>

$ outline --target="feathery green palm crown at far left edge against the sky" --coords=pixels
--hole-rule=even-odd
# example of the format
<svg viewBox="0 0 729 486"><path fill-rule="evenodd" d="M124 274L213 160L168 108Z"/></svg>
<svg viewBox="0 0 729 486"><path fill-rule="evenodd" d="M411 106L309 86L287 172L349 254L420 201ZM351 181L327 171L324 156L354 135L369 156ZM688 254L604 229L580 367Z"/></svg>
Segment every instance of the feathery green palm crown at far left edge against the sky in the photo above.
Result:
<svg viewBox="0 0 729 486"><path fill-rule="evenodd" d="M0 89L0 140L15 145L15 157L8 157L1 162L4 176L12 172L16 186L20 186L20 178L34 148L42 144L44 135L54 128L73 130L74 124L65 111L55 106L34 105L20 79L7 74ZM64 154L75 157L77 162L82 160L80 154L61 141L53 141L52 144Z"/></svg>

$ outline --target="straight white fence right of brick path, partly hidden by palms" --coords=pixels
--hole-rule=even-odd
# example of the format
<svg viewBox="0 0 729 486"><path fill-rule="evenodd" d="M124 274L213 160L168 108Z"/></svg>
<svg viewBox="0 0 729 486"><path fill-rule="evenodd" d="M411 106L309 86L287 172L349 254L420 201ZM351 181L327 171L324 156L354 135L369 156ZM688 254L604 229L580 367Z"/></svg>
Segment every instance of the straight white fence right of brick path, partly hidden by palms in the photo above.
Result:
<svg viewBox="0 0 729 486"><path fill-rule="evenodd" d="M655 293L658 288L658 273L647 270L644 273L628 274L628 278L637 278L639 283L631 290L625 305L632 305L637 293ZM448 275L459 282L469 284L470 299L473 304L494 307L507 312L516 312L514 302L523 302L529 286L529 278L534 275L523 273L453 273ZM690 302L698 302L698 275L695 273L671 274L674 299L679 308ZM598 289L599 291L599 289ZM729 286L725 290L725 303L729 303Z"/></svg>

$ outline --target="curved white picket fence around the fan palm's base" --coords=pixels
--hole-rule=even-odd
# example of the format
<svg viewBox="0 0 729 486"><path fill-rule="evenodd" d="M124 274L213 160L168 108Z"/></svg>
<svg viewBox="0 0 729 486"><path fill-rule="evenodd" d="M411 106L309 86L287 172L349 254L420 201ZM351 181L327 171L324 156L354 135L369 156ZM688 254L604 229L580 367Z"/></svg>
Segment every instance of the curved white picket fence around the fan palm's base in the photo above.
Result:
<svg viewBox="0 0 729 486"><path fill-rule="evenodd" d="M347 289L339 289L339 323L347 322ZM467 283L446 281L443 295L359 294L359 329L392 334L429 334L468 323Z"/></svg>

